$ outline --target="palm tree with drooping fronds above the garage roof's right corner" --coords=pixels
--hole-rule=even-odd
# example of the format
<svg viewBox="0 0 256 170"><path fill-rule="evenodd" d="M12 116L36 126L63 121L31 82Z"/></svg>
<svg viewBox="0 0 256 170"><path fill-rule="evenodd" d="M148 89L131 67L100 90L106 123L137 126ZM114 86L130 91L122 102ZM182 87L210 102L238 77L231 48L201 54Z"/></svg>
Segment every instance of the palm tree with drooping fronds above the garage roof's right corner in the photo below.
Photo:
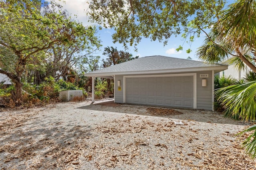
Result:
<svg viewBox="0 0 256 170"><path fill-rule="evenodd" d="M204 45L198 48L198 57L210 63L219 63L233 56L237 64L246 64L256 72L256 66L251 63L256 61L255 11L255 0L238 0L230 4L210 33L206 34ZM250 52L252 56L248 55Z"/></svg>

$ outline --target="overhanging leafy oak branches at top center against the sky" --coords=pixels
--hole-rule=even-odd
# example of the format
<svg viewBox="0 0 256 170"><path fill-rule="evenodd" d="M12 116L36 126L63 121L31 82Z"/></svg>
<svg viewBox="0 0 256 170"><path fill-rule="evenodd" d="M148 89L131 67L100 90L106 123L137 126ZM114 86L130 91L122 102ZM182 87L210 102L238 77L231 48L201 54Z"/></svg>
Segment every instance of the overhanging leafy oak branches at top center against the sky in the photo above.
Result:
<svg viewBox="0 0 256 170"><path fill-rule="evenodd" d="M188 41L200 36L219 17L224 0L92 0L88 15L104 28L114 28L114 42L137 45L142 37L165 45L171 36Z"/></svg>

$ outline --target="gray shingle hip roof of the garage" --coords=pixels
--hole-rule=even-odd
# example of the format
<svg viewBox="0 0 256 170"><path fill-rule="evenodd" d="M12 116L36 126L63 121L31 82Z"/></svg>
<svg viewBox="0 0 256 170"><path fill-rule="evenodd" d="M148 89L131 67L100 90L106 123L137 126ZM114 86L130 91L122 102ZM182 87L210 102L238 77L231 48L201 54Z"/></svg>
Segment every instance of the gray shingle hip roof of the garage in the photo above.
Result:
<svg viewBox="0 0 256 170"><path fill-rule="evenodd" d="M177 69L180 70L180 69L191 69L191 68L194 68L194 69L207 68L207 70L209 70L209 67L212 67L211 70L214 70L215 67L223 67L223 66L226 66L225 69L227 69L227 65L209 64L202 61L155 55L155 56L148 56L148 57L140 57L138 59L126 61L124 63L120 63L110 67L92 71L90 73L86 73L85 75L87 76L100 75L100 74L106 75L107 73L111 73L114 75L114 74L122 74L122 73L127 74L127 73L134 73L134 72L161 71L161 70L171 71L171 70L177 70Z"/></svg>

